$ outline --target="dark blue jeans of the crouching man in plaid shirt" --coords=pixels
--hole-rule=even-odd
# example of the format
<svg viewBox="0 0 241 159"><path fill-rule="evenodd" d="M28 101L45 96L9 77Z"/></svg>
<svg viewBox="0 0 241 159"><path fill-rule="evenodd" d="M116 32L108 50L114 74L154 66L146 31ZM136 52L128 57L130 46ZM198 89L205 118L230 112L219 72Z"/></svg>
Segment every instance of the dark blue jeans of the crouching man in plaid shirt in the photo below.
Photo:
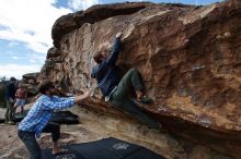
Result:
<svg viewBox="0 0 241 159"><path fill-rule="evenodd" d="M45 133L51 133L51 140L57 142L60 138L60 125L56 123L48 123L44 131ZM23 142L30 152L30 159L41 159L41 147L37 144L34 132L18 131L20 139Z"/></svg>

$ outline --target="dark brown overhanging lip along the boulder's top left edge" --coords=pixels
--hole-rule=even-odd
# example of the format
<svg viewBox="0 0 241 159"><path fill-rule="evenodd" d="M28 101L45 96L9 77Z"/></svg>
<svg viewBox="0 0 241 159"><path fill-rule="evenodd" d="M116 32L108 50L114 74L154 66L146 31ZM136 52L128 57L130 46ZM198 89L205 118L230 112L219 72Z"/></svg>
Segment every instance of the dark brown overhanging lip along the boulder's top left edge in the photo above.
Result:
<svg viewBox="0 0 241 159"><path fill-rule="evenodd" d="M59 48L62 35L80 28L84 23L93 24L115 15L128 15L145 9L148 5L152 5L152 3L126 3L125 5L103 4L94 5L84 12L79 11L73 14L70 13L68 15L64 15L58 19L53 26L51 37L54 39L54 45Z"/></svg>

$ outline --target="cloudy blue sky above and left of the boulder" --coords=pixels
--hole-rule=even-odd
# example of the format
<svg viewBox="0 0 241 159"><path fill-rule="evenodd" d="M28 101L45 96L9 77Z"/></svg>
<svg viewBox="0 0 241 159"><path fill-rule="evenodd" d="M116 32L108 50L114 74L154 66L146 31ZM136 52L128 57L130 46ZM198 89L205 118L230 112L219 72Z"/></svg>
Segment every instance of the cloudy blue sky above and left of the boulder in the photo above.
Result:
<svg viewBox="0 0 241 159"><path fill-rule="evenodd" d="M39 72L55 21L65 14L85 10L93 4L126 0L0 0L0 77L22 78ZM141 0L133 0L141 1ZM222 0L150 0L161 3L210 4Z"/></svg>

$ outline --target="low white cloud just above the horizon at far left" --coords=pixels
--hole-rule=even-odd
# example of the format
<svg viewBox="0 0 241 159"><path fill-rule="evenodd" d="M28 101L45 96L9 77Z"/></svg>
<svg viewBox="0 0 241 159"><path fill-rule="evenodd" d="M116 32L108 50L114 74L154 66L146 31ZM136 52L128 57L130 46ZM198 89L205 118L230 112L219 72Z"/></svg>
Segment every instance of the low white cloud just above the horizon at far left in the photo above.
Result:
<svg viewBox="0 0 241 159"><path fill-rule="evenodd" d="M19 65L19 64L0 64L0 76L14 76L19 80L26 73L39 72L42 65Z"/></svg>

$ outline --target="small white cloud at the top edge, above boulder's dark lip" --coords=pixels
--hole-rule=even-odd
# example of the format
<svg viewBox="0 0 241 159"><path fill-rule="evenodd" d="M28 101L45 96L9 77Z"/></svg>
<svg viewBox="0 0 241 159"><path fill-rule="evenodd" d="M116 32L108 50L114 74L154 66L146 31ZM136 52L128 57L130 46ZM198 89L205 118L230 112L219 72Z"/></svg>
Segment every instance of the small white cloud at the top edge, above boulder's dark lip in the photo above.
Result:
<svg viewBox="0 0 241 159"><path fill-rule="evenodd" d="M99 0L70 0L68 5L73 9L74 11L79 10L87 10L91 5L100 4L101 1Z"/></svg>

